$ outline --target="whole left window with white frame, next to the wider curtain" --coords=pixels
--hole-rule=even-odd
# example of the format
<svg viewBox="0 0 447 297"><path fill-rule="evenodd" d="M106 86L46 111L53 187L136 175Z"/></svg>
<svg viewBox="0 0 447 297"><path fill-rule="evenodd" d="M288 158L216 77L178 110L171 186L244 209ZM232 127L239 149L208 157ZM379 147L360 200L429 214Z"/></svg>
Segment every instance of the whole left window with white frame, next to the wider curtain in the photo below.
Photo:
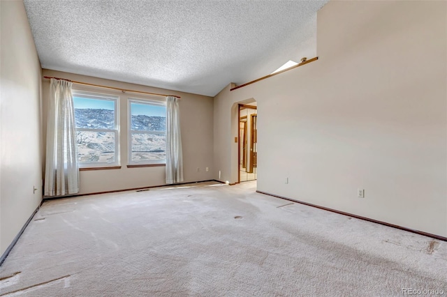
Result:
<svg viewBox="0 0 447 297"><path fill-rule="evenodd" d="M118 98L73 91L80 168L119 165Z"/></svg>

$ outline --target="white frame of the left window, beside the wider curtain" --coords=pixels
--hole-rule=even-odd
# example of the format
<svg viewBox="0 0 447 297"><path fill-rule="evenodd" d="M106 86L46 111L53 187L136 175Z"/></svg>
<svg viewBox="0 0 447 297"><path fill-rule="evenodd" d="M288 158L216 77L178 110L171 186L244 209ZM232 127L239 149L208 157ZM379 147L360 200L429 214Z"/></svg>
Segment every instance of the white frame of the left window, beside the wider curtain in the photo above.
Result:
<svg viewBox="0 0 447 297"><path fill-rule="evenodd" d="M76 136L78 136L78 132L86 131L86 132L112 132L115 135L115 162L80 162L78 159L78 166L80 170L82 169L115 169L120 166L121 160L120 160L120 133L119 133L119 96L117 95L111 95L108 93L97 93L92 91L81 91L81 90L72 90L72 96L78 97L78 98L86 98L86 99L93 99L93 100L108 100L114 102L115 107L115 127L114 129L95 129L95 128L77 128L76 130ZM74 102L73 102L74 103ZM75 109L75 106L73 104L73 111ZM78 142L76 143L78 146ZM78 149L78 147L77 147ZM79 153L78 153L79 154Z"/></svg>

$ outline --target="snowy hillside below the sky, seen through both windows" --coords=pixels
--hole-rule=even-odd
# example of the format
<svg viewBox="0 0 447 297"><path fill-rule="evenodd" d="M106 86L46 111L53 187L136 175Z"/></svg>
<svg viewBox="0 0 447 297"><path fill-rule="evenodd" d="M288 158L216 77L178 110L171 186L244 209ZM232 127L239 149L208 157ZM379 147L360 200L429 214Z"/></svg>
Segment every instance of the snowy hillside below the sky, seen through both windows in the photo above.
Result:
<svg viewBox="0 0 447 297"><path fill-rule="evenodd" d="M115 132L83 129L115 128L111 109L75 108L75 122L80 162L115 162ZM131 119L132 161L163 160L166 158L166 117L135 115Z"/></svg>

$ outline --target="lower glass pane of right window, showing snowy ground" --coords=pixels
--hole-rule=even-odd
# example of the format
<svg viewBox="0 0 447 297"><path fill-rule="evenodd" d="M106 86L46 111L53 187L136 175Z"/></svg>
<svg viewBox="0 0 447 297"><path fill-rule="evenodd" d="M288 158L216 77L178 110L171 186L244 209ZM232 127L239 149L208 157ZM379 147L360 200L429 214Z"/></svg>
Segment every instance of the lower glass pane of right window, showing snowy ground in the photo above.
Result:
<svg viewBox="0 0 447 297"><path fill-rule="evenodd" d="M132 133L132 161L165 160L166 135L152 133Z"/></svg>

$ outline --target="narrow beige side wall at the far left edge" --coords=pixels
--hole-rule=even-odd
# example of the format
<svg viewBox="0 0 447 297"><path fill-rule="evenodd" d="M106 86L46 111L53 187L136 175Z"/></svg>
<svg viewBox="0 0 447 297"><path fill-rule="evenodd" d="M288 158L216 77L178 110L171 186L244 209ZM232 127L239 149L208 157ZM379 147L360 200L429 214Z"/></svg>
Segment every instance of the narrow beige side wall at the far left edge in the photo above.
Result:
<svg viewBox="0 0 447 297"><path fill-rule="evenodd" d="M1 255L41 203L42 165L41 64L23 2L0 1L0 10Z"/></svg>

